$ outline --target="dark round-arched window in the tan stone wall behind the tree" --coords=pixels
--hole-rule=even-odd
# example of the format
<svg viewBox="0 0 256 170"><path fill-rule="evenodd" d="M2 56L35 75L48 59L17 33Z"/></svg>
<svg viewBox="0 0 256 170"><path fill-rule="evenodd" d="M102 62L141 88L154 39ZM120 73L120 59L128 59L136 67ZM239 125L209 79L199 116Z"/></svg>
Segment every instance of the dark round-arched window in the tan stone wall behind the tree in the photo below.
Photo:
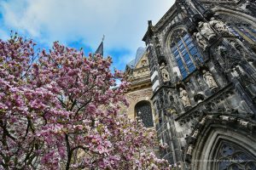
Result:
<svg viewBox="0 0 256 170"><path fill-rule="evenodd" d="M148 101L140 101L135 105L136 116L142 119L145 127L154 127L151 105Z"/></svg>

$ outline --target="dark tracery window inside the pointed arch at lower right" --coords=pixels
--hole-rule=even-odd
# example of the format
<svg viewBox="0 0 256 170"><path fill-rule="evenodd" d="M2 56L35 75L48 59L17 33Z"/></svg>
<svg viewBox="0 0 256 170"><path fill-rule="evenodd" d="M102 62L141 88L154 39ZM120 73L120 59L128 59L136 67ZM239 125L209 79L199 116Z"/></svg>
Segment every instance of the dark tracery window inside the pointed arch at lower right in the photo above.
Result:
<svg viewBox="0 0 256 170"><path fill-rule="evenodd" d="M255 157L236 144L222 143L217 156L219 170L256 169Z"/></svg>

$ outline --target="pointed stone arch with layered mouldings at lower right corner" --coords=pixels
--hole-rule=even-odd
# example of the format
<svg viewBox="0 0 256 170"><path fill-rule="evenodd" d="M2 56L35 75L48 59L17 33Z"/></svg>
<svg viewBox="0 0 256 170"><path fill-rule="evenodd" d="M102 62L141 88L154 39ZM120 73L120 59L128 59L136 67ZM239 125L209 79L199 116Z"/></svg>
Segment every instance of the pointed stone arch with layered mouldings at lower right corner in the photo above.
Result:
<svg viewBox="0 0 256 170"><path fill-rule="evenodd" d="M231 119L233 119L233 117ZM245 161L243 165L239 165L238 160L234 160L234 162L226 161L226 167L234 165L243 166L240 168L246 169L246 166L256 166L255 132L250 133L248 130L247 127L249 122L239 120L233 123L227 123L228 120L230 120L229 116L223 116L222 120L215 119L214 121L210 121L207 119L206 122L203 121L205 126L201 126L200 133L197 132L193 135L194 138L195 136L197 138L194 142L189 143L187 149L187 154L189 153L189 156L187 155L185 159L187 161L189 160L190 168L192 170L225 169L221 168L220 164L225 163L225 161L219 157L220 152L223 151L224 144L236 148L236 154L242 153L244 155L242 160ZM250 163L253 165L250 165ZM224 165L222 166L224 167Z"/></svg>

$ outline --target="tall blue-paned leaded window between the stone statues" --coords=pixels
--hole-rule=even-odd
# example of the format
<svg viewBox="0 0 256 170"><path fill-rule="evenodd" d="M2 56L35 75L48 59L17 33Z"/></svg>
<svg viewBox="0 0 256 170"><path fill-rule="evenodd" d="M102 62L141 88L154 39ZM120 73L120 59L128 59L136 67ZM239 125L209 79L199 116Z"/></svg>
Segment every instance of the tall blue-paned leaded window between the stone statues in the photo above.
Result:
<svg viewBox="0 0 256 170"><path fill-rule="evenodd" d="M201 54L189 34L180 37L179 41L172 45L172 54L177 61L177 66L183 78L195 71L196 63L203 62Z"/></svg>

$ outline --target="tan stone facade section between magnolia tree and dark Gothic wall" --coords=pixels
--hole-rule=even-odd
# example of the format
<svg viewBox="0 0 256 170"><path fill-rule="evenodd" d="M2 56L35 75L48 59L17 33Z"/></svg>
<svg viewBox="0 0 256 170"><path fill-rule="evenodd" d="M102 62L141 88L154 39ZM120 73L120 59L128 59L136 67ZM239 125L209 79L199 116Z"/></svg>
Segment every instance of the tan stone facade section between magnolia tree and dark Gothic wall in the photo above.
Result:
<svg viewBox="0 0 256 170"><path fill-rule="evenodd" d="M126 65L125 74L131 82L125 94L130 103L128 116L131 119L141 118L146 127L154 127L154 110L150 100L153 91L146 48L137 49L136 59Z"/></svg>

